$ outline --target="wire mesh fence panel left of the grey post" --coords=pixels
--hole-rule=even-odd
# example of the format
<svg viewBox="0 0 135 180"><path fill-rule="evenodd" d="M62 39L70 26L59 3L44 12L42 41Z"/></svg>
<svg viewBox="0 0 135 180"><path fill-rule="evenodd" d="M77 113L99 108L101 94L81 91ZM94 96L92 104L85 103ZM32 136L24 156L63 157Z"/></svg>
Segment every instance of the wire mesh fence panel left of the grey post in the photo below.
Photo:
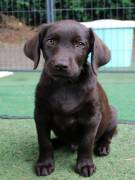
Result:
<svg viewBox="0 0 135 180"><path fill-rule="evenodd" d="M41 0L0 1L0 70L32 70L23 53L24 42L46 22L46 2ZM43 61L39 65L39 69Z"/></svg>

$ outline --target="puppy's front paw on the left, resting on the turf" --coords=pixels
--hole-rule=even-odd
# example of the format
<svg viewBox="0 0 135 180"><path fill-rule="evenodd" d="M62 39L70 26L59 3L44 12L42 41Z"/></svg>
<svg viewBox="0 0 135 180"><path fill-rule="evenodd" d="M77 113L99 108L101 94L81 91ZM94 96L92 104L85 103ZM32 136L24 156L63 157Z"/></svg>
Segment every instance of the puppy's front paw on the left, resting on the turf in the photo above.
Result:
<svg viewBox="0 0 135 180"><path fill-rule="evenodd" d="M45 160L42 162L37 162L35 166L35 171L37 176L48 176L54 171L53 160Z"/></svg>

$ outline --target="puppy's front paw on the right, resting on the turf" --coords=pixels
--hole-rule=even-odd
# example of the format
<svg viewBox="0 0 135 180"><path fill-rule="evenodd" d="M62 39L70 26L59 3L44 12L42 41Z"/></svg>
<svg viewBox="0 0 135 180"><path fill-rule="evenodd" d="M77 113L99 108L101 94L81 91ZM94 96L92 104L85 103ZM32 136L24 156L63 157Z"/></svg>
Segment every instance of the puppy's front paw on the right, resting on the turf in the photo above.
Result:
<svg viewBox="0 0 135 180"><path fill-rule="evenodd" d="M96 166L88 160L78 162L75 167L75 172L84 177L91 176L96 171Z"/></svg>

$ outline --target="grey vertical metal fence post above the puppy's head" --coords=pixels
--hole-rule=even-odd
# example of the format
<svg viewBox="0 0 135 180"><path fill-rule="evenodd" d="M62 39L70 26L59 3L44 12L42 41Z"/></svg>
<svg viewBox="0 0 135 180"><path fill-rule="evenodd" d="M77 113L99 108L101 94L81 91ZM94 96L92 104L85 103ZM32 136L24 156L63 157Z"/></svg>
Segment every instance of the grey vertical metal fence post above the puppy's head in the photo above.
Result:
<svg viewBox="0 0 135 180"><path fill-rule="evenodd" d="M46 0L47 5L47 22L54 22L54 0Z"/></svg>

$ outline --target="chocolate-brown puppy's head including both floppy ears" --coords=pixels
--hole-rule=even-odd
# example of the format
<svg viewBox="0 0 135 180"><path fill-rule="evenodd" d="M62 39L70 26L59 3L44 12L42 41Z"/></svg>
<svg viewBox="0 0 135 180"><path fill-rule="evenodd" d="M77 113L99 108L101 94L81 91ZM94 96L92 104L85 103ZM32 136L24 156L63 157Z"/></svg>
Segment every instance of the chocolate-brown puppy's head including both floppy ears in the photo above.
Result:
<svg viewBox="0 0 135 180"><path fill-rule="evenodd" d="M82 24L64 20L44 24L39 32L24 46L27 57L37 68L42 50L46 73L54 78L77 78L92 53L92 69L106 64L110 52L92 29Z"/></svg>

